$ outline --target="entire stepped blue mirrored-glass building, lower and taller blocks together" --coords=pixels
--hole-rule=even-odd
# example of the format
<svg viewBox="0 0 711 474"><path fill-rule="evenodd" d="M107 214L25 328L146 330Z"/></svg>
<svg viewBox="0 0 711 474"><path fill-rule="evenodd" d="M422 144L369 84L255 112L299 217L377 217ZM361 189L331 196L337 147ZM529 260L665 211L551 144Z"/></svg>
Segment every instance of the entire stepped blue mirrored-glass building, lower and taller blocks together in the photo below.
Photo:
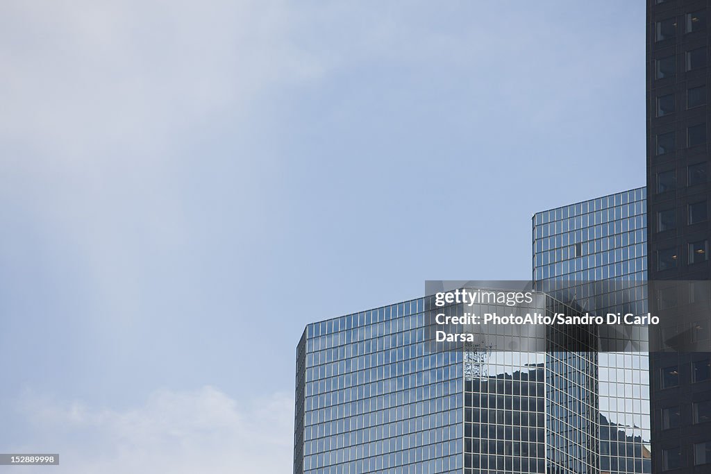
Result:
<svg viewBox="0 0 711 474"><path fill-rule="evenodd" d="M645 199L639 188L533 216L545 311L646 312ZM605 279L621 285L590 284ZM418 298L306 326L294 473L651 472L646 353L552 337L544 352L437 350L432 307Z"/></svg>

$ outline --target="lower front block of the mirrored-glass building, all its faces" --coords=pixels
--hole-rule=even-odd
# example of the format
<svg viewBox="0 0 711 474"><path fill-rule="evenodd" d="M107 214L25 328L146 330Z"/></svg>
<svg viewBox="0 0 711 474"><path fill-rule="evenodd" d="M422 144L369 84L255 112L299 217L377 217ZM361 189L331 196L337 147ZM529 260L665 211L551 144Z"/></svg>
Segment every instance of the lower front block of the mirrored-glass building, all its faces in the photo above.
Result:
<svg viewBox="0 0 711 474"><path fill-rule="evenodd" d="M570 313L550 296L535 301L527 311ZM557 345L569 340L561 333L535 346L547 352L486 343L447 352L429 337L428 308L432 297L306 326L296 351L294 473L599 472L592 332L575 333L577 352ZM502 330L519 348L540 343Z"/></svg>

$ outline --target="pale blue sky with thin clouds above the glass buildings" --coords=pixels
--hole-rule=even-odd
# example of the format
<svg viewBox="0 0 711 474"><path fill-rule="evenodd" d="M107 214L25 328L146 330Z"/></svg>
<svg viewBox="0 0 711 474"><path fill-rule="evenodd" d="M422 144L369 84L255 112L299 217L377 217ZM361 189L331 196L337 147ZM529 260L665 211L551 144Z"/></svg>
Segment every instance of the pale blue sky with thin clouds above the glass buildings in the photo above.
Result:
<svg viewBox="0 0 711 474"><path fill-rule="evenodd" d="M0 452L289 472L306 323L529 279L533 212L645 184L644 15L2 2Z"/></svg>

